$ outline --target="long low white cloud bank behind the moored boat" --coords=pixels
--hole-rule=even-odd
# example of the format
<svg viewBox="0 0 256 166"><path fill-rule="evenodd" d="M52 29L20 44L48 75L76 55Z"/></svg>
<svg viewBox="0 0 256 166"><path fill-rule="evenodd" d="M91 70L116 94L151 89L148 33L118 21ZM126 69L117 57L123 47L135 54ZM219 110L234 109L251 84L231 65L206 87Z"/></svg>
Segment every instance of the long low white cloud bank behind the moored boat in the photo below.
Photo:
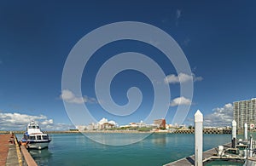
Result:
<svg viewBox="0 0 256 166"><path fill-rule="evenodd" d="M45 130L67 130L73 129L73 125L54 123L44 115L32 116L20 113L0 113L0 130L26 130L31 121L38 123L41 129Z"/></svg>

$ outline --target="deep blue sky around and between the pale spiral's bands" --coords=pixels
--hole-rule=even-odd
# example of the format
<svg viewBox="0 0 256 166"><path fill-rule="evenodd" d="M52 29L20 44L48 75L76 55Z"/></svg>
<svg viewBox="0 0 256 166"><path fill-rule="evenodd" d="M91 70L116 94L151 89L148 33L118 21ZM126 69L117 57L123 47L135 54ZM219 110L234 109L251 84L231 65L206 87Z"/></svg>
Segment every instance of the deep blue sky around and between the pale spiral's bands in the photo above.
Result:
<svg viewBox="0 0 256 166"><path fill-rule="evenodd" d="M31 118L47 129L72 128L61 99L61 76L67 56L84 35L118 21L156 26L183 49L195 74L192 105L184 123L192 124L191 118L200 109L206 125L229 124L230 104L255 97L255 7L253 1L1 2L0 129L22 129ZM121 72L111 84L113 100L119 105L128 102L127 89L141 89L142 105L131 116L105 112L94 91L99 67L114 54L126 51L147 54L160 64L166 76L172 75L166 116L167 123L172 123L177 110L175 99L181 97L180 85L173 81L177 72L158 49L137 41L109 43L99 49L84 68L84 100L80 102L72 91L67 91L65 99L86 104L96 120L107 117L119 124L143 120L151 109L154 89L142 73ZM187 105L189 100L182 102Z"/></svg>

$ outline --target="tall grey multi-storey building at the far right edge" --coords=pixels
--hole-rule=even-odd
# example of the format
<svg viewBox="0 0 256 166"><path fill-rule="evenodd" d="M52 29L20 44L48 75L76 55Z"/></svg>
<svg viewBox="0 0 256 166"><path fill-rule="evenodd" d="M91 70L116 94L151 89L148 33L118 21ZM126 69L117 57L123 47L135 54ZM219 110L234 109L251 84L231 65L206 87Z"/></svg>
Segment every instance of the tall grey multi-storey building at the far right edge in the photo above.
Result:
<svg viewBox="0 0 256 166"><path fill-rule="evenodd" d="M247 123L248 126L256 124L256 98L236 101L233 104L237 129L243 129L244 123Z"/></svg>

